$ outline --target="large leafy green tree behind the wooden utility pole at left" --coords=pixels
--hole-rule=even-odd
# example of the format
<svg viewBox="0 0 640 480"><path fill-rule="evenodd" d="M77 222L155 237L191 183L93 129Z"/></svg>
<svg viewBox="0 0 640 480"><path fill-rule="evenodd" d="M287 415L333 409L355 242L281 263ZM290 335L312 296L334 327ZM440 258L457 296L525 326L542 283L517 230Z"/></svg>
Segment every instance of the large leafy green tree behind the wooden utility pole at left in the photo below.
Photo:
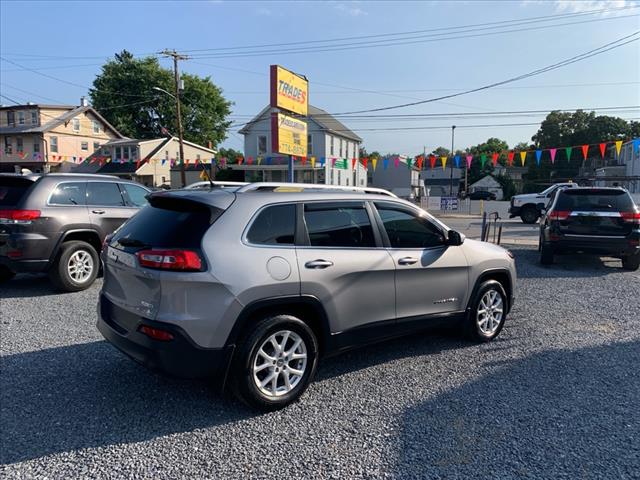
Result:
<svg viewBox="0 0 640 480"><path fill-rule="evenodd" d="M182 124L186 140L214 146L225 139L231 124L226 120L231 103L209 77L182 74ZM102 66L89 90L91 103L123 135L138 139L163 136L164 127L176 131L175 100L154 90L173 93L173 72L162 68L155 57L134 58L126 50Z"/></svg>

